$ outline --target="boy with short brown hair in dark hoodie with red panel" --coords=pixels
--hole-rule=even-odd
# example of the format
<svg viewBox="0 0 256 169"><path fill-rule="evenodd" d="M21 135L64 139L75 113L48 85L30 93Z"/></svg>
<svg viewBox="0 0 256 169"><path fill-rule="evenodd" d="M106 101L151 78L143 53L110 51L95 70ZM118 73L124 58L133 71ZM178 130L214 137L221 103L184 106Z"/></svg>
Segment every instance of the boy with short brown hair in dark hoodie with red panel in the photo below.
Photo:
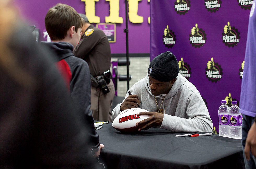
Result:
<svg viewBox="0 0 256 169"><path fill-rule="evenodd" d="M84 122L89 124L92 153L96 157L104 148L100 144L99 135L94 128L91 107L91 81L88 64L73 54L82 33L82 18L77 11L66 4L56 4L45 16L45 27L52 42L41 42L47 46L57 60L57 66L65 79L71 98L81 114Z"/></svg>

